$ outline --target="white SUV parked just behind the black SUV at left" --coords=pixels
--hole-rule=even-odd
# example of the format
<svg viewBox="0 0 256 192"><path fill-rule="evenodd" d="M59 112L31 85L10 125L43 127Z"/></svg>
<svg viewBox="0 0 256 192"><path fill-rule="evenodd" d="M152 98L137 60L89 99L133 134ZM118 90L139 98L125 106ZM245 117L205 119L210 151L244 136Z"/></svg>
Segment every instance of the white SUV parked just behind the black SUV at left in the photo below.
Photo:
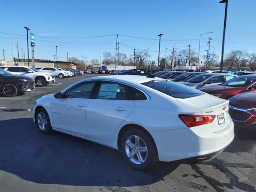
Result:
<svg viewBox="0 0 256 192"><path fill-rule="evenodd" d="M35 84L39 87L45 86L48 83L55 82L54 74L40 72L32 67L27 66L10 66L4 70L18 75L28 76L33 78Z"/></svg>

